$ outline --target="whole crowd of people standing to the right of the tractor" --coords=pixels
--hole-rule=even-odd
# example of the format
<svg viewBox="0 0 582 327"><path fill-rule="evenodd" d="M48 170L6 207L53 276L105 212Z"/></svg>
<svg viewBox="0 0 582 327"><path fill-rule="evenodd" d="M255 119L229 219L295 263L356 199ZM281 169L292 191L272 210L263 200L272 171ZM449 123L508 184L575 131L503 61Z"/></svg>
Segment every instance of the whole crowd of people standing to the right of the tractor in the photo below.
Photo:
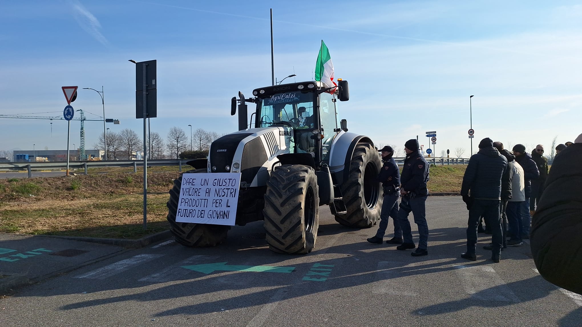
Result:
<svg viewBox="0 0 582 327"><path fill-rule="evenodd" d="M429 166L416 139L407 141L404 150L402 174L392 147L378 150L384 163L378 174L384 202L378 231L367 240L382 244L391 217L394 235L386 243L398 245L398 250L416 248L412 256L426 256ZM481 140L479 151L469 160L460 192L469 210L467 248L461 257L477 260L481 221L485 222L483 232L491 233L491 243L484 249L491 251L491 260L496 263L504 248L521 246L531 235L532 253L542 276L581 293L582 134L574 143L560 144L552 150L556 156L550 169L543 145L537 145L530 154L521 144L509 151L502 142ZM411 234L410 212L418 225L418 247Z"/></svg>

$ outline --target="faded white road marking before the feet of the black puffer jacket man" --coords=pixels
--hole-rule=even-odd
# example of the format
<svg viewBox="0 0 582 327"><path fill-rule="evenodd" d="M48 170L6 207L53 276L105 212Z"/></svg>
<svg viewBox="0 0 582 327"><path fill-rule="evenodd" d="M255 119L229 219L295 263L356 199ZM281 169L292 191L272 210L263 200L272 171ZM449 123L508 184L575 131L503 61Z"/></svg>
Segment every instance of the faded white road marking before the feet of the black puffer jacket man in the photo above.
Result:
<svg viewBox="0 0 582 327"><path fill-rule="evenodd" d="M471 294L471 298L483 301L519 302L515 293L493 267L459 265L455 268L457 268L455 273L462 281L465 292Z"/></svg>

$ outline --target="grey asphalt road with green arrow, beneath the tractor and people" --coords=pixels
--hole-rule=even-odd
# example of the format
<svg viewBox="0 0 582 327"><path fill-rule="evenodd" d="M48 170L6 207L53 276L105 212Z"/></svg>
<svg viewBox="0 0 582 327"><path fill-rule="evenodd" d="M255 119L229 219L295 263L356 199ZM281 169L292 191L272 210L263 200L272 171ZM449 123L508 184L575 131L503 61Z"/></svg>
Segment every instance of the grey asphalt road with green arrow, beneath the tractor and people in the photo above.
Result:
<svg viewBox="0 0 582 327"><path fill-rule="evenodd" d="M460 258L466 215L460 197L429 197L424 257L367 243L375 227L343 228L327 207L317 249L305 256L268 250L255 238L260 222L234 227L218 247L124 251L0 300L0 325L582 325L582 297L544 281L527 245L504 250L501 263L480 246L477 261ZM292 268L221 270L247 268L228 265Z"/></svg>

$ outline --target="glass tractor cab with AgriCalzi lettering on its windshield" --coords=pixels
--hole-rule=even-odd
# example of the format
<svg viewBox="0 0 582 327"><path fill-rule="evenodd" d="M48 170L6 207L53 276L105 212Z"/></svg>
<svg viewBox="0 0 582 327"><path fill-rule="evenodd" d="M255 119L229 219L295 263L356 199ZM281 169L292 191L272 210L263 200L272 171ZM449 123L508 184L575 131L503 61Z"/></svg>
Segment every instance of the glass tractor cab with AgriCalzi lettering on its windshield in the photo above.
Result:
<svg viewBox="0 0 582 327"><path fill-rule="evenodd" d="M285 135L291 153L310 153L316 163L328 161L333 138L341 130L336 102L348 100L347 92L347 81L340 81L338 88L309 81L254 89L255 127L292 127L293 135Z"/></svg>

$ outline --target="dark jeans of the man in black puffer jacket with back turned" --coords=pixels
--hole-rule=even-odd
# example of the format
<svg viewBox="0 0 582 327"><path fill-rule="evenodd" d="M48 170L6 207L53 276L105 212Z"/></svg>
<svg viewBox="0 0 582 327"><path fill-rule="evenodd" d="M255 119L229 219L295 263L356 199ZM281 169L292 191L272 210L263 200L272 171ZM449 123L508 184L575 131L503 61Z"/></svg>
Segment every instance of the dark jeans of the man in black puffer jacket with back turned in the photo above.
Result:
<svg viewBox="0 0 582 327"><path fill-rule="evenodd" d="M469 209L469 221L467 221L467 253L475 253L475 247L477 246L477 227L479 226L479 218L481 218L481 215L487 221L487 225L491 225L493 253L501 253L503 232L500 221L500 204L501 200L473 200L473 204L471 204L471 208Z"/></svg>

